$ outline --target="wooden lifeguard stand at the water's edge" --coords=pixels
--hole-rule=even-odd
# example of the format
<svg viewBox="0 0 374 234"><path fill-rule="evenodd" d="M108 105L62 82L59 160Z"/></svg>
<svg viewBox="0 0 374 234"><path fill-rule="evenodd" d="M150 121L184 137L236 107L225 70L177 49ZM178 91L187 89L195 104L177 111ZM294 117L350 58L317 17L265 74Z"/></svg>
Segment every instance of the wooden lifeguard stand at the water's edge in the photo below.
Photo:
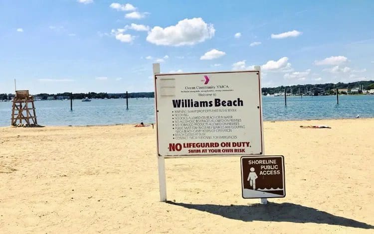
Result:
<svg viewBox="0 0 374 234"><path fill-rule="evenodd" d="M30 119L33 124L37 125L34 97L28 94L28 90L15 91L11 112L11 125L17 125L17 121L22 124L22 120L24 120L26 124L30 125Z"/></svg>

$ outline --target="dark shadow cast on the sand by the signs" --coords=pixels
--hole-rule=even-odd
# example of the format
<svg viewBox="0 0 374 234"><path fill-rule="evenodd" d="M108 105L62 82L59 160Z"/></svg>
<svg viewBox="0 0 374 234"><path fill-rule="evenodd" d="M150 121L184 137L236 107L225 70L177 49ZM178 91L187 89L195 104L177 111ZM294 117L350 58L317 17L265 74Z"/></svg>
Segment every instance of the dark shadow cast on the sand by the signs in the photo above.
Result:
<svg viewBox="0 0 374 234"><path fill-rule="evenodd" d="M316 223L340 225L352 228L374 229L374 226L356 220L335 216L311 207L305 207L292 203L268 203L268 205L212 205L212 204L186 204L168 201L171 205L188 209L205 211L222 217L250 221L292 222L292 223Z"/></svg>

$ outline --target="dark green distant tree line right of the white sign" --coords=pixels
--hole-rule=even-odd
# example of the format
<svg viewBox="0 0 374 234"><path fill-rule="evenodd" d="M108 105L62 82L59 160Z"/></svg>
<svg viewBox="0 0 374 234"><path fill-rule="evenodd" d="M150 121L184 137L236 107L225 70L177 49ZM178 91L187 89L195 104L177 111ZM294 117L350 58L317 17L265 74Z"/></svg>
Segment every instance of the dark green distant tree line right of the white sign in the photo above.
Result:
<svg viewBox="0 0 374 234"><path fill-rule="evenodd" d="M292 86L279 86L274 88L262 88L262 93L264 95L267 94L275 94L275 93L283 93L284 90L287 91L287 93L292 94L305 94L307 91L309 91L312 88L321 88L325 90L326 94L334 95L335 89L352 89L352 88L358 88L360 86L364 85L364 90L370 90L374 89L374 81L357 81L357 82L351 82L351 83L342 83L339 82L337 84L328 83L328 84L317 84L317 85L292 85Z"/></svg>

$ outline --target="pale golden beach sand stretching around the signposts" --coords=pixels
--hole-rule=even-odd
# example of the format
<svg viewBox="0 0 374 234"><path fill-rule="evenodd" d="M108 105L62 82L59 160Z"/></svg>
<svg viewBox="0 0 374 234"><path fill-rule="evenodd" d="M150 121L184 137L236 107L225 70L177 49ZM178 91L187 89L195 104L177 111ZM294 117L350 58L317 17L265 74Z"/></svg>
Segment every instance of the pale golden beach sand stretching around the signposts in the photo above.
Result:
<svg viewBox="0 0 374 234"><path fill-rule="evenodd" d="M1 127L0 233L374 233L374 119L264 135L285 198L242 199L239 157L167 159L161 203L152 127Z"/></svg>

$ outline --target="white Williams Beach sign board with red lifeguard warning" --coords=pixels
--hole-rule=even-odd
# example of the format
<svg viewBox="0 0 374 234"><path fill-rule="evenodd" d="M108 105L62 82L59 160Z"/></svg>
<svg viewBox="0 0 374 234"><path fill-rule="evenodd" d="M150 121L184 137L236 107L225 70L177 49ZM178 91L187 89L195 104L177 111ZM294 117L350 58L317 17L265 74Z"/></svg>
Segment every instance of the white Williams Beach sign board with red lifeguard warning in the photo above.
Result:
<svg viewBox="0 0 374 234"><path fill-rule="evenodd" d="M262 154L259 71L156 74L159 156Z"/></svg>

